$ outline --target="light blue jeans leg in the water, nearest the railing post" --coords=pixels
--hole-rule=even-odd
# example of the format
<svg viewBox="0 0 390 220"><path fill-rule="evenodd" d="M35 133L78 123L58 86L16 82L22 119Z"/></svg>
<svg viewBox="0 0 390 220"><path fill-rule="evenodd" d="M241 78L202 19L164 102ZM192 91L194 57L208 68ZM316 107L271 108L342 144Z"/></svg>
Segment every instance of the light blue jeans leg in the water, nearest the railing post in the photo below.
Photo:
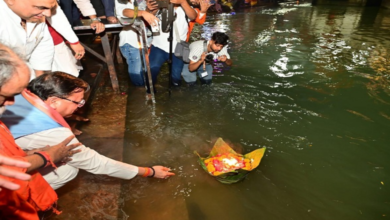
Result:
<svg viewBox="0 0 390 220"><path fill-rule="evenodd" d="M139 49L132 47L130 44L125 44L120 47L120 50L126 58L131 82L135 86L144 86L144 74Z"/></svg>

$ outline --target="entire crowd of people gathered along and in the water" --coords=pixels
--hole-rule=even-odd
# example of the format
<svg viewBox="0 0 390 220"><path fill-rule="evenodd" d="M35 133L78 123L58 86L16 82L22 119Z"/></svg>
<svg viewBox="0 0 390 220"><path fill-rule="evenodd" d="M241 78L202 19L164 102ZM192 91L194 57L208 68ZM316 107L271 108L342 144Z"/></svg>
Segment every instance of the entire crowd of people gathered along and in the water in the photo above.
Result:
<svg viewBox="0 0 390 220"><path fill-rule="evenodd" d="M136 1L136 0L133 0ZM0 219L39 219L46 212L60 213L55 190L74 179L80 169L129 180L135 176L169 178L168 167L139 167L107 158L79 143L66 118L85 104L89 85L78 78L84 47L72 27L80 14L91 19L97 34L105 26L100 18L142 18L157 28L149 55L140 53L139 33L125 26L120 51L126 58L131 82L145 85L145 56L149 56L153 83L169 59L169 33L162 31L161 13L154 0L0 0ZM209 0L170 0L176 18L172 42L189 41L195 24L206 19ZM102 10L103 9L103 10ZM172 86L212 80L212 63L232 65L229 37L215 32L210 40L189 46L189 62L172 55Z"/></svg>

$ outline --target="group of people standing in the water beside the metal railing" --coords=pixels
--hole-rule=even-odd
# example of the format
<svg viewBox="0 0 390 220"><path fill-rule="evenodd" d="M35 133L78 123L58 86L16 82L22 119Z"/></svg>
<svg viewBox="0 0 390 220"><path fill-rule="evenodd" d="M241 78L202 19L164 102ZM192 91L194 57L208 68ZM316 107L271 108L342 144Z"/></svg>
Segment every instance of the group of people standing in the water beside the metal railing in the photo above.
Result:
<svg viewBox="0 0 390 220"><path fill-rule="evenodd" d="M191 0L190 2L186 0L171 0L170 2L175 4L176 16L172 25L174 33L172 36L170 36L169 32L161 31L161 10L159 10L156 1L149 0L142 1L139 4L138 16L142 17L148 26L157 27L160 30L158 34L153 33L153 36L148 41L151 42L151 45L143 45L142 41L138 40L136 31L130 26L125 26L119 34L120 50L126 58L129 76L135 86L144 86L146 82L144 77L146 70L143 68L143 66L146 66L146 63L143 63L145 54L140 53L139 45L142 47L147 46L150 50L150 70L152 81L155 84L162 65L170 59L170 46L172 46L172 51L175 51L176 42L188 42L194 25L202 25L205 22L207 11L212 5L209 0ZM122 0L115 0L115 9L119 18L132 18L135 13L131 2L122 2ZM172 42L168 40L170 37ZM203 49L203 43L193 42L190 45L189 63L185 63L182 58L173 54L170 69L172 86L180 86L182 78L188 85L195 85L197 80L195 72L207 72L207 76L203 74L203 77L199 75L199 78L202 84L210 84L212 79L211 63L214 60L225 62L227 65L232 64L227 52L228 41L229 37L225 33L216 32L205 45L205 49ZM198 54L199 52L200 54ZM210 60L205 60L207 54L212 56ZM193 62L197 62L199 65L192 64ZM201 63L205 65L200 65ZM192 67L192 69L189 67Z"/></svg>

